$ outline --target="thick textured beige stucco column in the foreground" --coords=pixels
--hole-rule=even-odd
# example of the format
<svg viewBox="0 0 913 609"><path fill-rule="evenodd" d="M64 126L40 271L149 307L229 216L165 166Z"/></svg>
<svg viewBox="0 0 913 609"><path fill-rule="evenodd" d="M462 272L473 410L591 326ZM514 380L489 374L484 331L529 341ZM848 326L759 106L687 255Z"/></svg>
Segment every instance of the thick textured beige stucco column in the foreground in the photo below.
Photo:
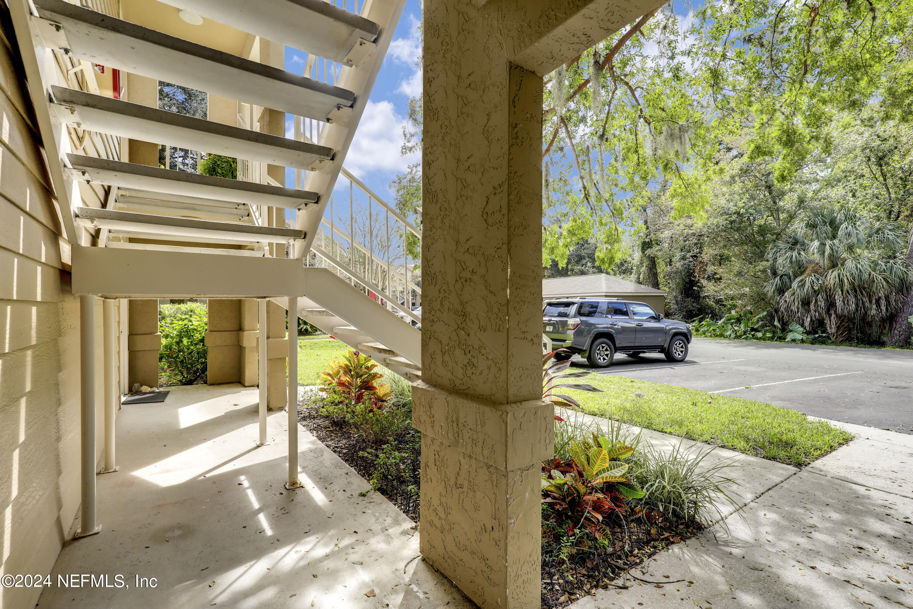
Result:
<svg viewBox="0 0 913 609"><path fill-rule="evenodd" d="M488 5L425 5L420 548L480 606L526 608L540 605L554 439L540 384L542 79L509 60L510 25Z"/></svg>

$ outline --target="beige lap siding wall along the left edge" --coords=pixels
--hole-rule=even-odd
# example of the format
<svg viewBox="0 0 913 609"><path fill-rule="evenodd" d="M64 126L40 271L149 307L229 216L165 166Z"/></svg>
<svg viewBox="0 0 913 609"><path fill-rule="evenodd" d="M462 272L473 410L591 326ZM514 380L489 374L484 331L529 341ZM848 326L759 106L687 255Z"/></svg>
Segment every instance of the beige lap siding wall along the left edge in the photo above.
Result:
<svg viewBox="0 0 913 609"><path fill-rule="evenodd" d="M5 22L0 21L0 24ZM0 38L0 574L47 573L79 508L79 300L16 71ZM97 205L97 204L96 204ZM96 341L102 344L97 307ZM101 386L101 352L96 365ZM97 433L103 438L102 395ZM98 446L99 455L102 450ZM40 588L0 588L30 607Z"/></svg>

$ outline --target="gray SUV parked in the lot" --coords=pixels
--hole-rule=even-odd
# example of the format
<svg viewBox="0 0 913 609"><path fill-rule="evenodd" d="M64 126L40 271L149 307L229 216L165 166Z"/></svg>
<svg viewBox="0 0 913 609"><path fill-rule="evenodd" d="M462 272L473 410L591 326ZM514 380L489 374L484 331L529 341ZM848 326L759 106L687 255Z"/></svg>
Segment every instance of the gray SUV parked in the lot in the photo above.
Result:
<svg viewBox="0 0 913 609"><path fill-rule="evenodd" d="M665 353L669 362L687 357L691 325L666 320L643 302L625 299L553 299L542 310L543 333L552 350L567 349L555 359L578 353L591 366L605 368L615 353L638 357Z"/></svg>

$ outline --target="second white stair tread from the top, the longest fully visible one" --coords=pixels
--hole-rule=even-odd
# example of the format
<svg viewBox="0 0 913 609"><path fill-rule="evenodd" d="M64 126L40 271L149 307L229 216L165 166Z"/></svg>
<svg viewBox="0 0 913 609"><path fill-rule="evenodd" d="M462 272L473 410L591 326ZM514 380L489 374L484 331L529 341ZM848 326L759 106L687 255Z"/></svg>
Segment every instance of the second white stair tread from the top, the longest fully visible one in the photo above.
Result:
<svg viewBox="0 0 913 609"><path fill-rule="evenodd" d="M327 121L338 106L351 108L355 100L352 91L64 0L37 0L35 5L39 16L63 26L75 57L95 64L319 121Z"/></svg>

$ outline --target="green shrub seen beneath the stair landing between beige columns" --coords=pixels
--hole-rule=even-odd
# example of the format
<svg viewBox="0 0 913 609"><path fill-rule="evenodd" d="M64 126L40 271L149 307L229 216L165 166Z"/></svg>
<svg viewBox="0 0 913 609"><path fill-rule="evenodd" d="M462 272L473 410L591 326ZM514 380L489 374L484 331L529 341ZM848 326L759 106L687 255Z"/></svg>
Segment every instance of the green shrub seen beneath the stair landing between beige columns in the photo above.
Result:
<svg viewBox="0 0 913 609"><path fill-rule="evenodd" d="M206 325L205 304L187 302L159 307L159 372L167 384L189 385L205 377Z"/></svg>

